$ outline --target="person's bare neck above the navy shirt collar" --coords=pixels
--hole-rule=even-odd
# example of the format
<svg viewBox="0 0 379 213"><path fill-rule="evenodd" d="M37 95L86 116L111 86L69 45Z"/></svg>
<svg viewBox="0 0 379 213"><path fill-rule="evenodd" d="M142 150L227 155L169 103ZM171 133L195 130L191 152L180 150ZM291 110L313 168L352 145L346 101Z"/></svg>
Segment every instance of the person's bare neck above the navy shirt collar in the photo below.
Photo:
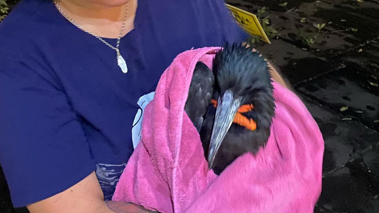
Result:
<svg viewBox="0 0 379 213"><path fill-rule="evenodd" d="M97 6L78 5L69 0L57 0L64 13L85 30L103 38L119 36L127 5L102 8ZM130 0L128 17L122 36L134 28L137 1Z"/></svg>

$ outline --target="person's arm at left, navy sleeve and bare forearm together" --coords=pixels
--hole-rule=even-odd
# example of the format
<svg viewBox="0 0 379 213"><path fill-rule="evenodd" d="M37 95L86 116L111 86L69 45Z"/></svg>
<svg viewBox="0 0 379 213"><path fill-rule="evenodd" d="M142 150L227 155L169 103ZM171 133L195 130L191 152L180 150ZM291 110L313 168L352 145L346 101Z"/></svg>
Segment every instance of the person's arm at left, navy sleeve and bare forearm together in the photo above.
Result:
<svg viewBox="0 0 379 213"><path fill-rule="evenodd" d="M147 212L106 204L80 118L50 66L22 61L31 56L0 54L0 162L13 205L31 213Z"/></svg>

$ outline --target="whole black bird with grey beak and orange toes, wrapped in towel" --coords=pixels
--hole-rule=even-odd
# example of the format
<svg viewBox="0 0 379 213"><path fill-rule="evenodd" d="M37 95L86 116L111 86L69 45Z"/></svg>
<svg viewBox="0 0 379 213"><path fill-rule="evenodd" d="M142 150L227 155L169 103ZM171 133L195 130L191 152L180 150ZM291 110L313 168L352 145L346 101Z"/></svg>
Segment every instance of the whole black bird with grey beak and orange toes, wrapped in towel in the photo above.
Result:
<svg viewBox="0 0 379 213"><path fill-rule="evenodd" d="M275 111L267 61L251 47L227 44L216 53L213 72L196 64L185 111L216 174L243 153L256 153L268 141ZM233 122L237 117L255 122L256 129Z"/></svg>

